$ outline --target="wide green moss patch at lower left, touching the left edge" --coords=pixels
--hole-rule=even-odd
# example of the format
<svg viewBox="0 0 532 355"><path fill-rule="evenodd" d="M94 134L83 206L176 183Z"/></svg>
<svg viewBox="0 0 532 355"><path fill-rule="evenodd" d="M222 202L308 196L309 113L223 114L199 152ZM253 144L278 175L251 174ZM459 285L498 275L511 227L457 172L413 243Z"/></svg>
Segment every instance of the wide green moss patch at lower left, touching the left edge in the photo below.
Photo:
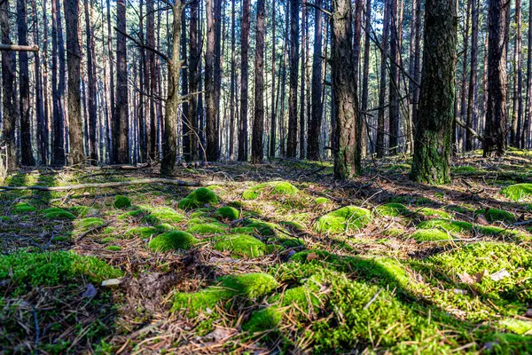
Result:
<svg viewBox="0 0 532 355"><path fill-rule="evenodd" d="M29 285L56 286L86 277L93 283L120 277L122 272L93 256L74 252L16 253L0 256L0 280L11 280L19 288Z"/></svg>

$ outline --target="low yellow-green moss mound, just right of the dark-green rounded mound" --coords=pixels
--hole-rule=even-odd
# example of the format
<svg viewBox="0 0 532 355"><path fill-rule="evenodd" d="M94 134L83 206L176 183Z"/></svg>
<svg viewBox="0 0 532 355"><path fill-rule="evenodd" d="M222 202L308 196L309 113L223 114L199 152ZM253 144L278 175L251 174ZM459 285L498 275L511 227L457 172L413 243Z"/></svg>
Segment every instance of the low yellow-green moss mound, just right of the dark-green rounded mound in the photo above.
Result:
<svg viewBox="0 0 532 355"><path fill-rule="evenodd" d="M266 244L246 234L221 235L215 238L214 248L231 256L256 257L266 254Z"/></svg>

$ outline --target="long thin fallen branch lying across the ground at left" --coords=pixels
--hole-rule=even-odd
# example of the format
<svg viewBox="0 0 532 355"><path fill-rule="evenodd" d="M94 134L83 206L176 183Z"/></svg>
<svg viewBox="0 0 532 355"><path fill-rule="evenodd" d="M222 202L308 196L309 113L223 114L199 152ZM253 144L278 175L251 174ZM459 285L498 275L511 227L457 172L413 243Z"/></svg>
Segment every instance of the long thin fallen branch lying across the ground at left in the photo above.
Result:
<svg viewBox="0 0 532 355"><path fill-rule="evenodd" d="M68 191L81 190L86 188L107 188L107 187L121 187L130 185L143 184L168 184L177 186L200 186L198 182L173 180L170 178L144 178L140 180L120 181L113 183L91 183L80 185L66 185L66 186L0 186L0 190L38 190L38 191Z"/></svg>

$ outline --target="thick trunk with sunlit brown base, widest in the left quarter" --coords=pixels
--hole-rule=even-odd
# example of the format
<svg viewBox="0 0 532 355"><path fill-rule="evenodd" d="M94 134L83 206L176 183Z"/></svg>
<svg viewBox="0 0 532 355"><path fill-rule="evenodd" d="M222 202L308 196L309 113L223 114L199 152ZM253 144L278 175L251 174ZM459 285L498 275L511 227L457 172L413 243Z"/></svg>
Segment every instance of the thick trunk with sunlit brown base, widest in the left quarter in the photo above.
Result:
<svg viewBox="0 0 532 355"><path fill-rule="evenodd" d="M68 135L70 138L70 152L68 154L71 164L82 163L85 159L83 153L83 123L82 123L82 95L81 61L79 38L79 2L78 0L65 1L66 22L66 63L68 65Z"/></svg>

